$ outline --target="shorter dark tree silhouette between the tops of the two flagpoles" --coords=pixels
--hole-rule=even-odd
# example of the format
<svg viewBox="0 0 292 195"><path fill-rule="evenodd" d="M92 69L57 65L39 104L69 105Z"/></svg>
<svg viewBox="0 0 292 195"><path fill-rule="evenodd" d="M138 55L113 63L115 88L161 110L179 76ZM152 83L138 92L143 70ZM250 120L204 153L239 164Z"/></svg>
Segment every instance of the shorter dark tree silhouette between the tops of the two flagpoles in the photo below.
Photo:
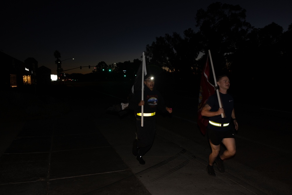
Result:
<svg viewBox="0 0 292 195"><path fill-rule="evenodd" d="M192 82L192 77L197 74L196 58L200 51L197 43L197 35L191 28L184 31L184 37L176 32L165 34L156 37L151 46L146 46L146 59L149 64L172 72L182 82Z"/></svg>

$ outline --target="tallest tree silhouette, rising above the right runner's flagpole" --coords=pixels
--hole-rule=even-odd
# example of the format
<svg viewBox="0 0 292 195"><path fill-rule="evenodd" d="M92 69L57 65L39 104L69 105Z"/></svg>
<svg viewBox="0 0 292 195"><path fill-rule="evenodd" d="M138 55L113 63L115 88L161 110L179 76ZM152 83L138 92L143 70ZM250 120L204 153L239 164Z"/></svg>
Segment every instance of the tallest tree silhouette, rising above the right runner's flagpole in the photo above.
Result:
<svg viewBox="0 0 292 195"><path fill-rule="evenodd" d="M207 7L207 11L199 9L196 14L196 27L201 52L208 54L216 64L215 72L221 74L228 71L236 51L244 47L246 35L253 27L246 22L246 10L239 5L216 2Z"/></svg>

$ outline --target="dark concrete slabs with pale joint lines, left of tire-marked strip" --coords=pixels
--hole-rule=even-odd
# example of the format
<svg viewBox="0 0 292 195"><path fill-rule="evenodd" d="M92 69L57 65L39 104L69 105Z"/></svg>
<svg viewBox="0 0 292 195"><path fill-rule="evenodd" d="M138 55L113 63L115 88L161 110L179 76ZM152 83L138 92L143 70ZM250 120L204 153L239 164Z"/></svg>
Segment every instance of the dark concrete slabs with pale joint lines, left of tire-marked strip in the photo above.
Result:
<svg viewBox="0 0 292 195"><path fill-rule="evenodd" d="M25 124L0 158L0 194L150 194L91 120L72 117Z"/></svg>

